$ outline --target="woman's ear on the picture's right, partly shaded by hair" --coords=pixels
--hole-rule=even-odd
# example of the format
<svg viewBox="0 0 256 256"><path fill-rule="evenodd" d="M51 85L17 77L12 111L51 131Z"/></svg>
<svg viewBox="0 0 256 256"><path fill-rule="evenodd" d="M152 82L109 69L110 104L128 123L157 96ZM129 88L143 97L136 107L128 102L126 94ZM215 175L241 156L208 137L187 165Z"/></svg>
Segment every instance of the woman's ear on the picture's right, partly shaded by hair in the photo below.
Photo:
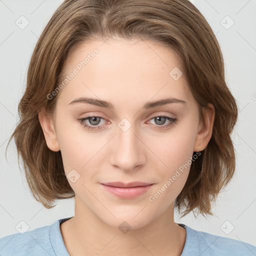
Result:
<svg viewBox="0 0 256 256"><path fill-rule="evenodd" d="M213 120L215 116L214 106L211 103L208 103L206 107L202 108L202 112L204 125L203 121L201 121L198 126L193 151L203 150L207 146L212 134Z"/></svg>

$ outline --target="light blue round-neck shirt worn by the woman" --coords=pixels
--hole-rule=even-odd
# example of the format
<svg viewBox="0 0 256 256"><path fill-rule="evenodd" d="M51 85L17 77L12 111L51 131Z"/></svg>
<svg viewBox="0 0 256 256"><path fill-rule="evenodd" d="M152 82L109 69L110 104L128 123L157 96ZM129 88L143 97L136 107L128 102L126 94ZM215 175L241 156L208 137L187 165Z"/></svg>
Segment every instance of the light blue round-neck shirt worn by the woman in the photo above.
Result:
<svg viewBox="0 0 256 256"><path fill-rule="evenodd" d="M19 256L70 256L60 232L60 223L69 219L56 220L51 225L38 227L25 233L14 233L0 238L0 255ZM185 245L180 256L255 256L256 246L232 238L197 231L185 224ZM100 254L100 253L99 253Z"/></svg>

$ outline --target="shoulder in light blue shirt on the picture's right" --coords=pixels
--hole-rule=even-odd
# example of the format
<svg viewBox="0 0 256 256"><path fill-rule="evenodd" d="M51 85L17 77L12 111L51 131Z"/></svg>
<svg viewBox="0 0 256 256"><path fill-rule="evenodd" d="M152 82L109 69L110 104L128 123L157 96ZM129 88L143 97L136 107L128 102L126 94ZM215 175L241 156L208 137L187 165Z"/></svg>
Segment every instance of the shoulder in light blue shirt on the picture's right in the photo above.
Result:
<svg viewBox="0 0 256 256"><path fill-rule="evenodd" d="M196 250L201 256L256 255L256 246L252 244L243 242L241 240L198 231L188 226L185 226L185 228L187 235L190 236L190 238L187 240L187 248Z"/></svg>

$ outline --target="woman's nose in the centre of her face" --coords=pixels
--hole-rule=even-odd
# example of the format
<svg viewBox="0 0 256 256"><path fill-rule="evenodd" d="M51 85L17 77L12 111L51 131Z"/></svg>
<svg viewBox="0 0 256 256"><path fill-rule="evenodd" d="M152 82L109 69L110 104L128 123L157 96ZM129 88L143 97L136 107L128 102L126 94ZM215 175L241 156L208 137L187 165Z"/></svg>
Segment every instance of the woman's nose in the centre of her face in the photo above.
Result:
<svg viewBox="0 0 256 256"><path fill-rule="evenodd" d="M131 125L127 130L120 125L116 127L116 132L111 141L110 164L126 172L137 170L146 161L143 139L136 131L135 125Z"/></svg>

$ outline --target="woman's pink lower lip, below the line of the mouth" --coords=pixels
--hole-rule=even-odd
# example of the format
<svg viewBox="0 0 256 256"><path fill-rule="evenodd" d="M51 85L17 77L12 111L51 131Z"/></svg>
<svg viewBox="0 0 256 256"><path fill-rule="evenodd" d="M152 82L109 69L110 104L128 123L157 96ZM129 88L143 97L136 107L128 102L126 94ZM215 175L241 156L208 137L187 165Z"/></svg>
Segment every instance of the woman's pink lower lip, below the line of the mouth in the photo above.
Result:
<svg viewBox="0 0 256 256"><path fill-rule="evenodd" d="M101 184L107 191L117 195L120 198L128 199L139 196L145 193L153 184L147 186L136 187L114 187Z"/></svg>

